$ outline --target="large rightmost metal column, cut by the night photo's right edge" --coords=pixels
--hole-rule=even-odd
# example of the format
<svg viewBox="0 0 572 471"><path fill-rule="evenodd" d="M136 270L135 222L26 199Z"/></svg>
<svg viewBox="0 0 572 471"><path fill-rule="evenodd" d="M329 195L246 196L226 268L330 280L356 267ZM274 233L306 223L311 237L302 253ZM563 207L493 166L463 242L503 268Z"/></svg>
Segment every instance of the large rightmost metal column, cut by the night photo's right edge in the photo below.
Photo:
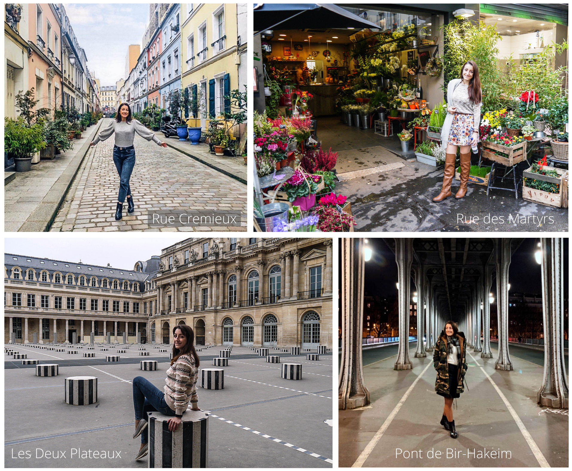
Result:
<svg viewBox="0 0 572 471"><path fill-rule="evenodd" d="M541 406L568 409L564 363L564 239L542 238L542 315L544 374L537 400Z"/></svg>

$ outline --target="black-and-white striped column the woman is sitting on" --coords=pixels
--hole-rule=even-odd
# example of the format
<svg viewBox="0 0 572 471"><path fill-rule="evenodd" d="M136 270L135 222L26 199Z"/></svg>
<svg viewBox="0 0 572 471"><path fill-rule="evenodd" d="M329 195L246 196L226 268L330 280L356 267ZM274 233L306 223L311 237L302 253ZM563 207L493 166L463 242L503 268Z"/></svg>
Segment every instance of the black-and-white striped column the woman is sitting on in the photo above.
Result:
<svg viewBox="0 0 572 471"><path fill-rule="evenodd" d="M153 411L149 416L149 468L208 468L209 416L187 409L177 430L172 417Z"/></svg>

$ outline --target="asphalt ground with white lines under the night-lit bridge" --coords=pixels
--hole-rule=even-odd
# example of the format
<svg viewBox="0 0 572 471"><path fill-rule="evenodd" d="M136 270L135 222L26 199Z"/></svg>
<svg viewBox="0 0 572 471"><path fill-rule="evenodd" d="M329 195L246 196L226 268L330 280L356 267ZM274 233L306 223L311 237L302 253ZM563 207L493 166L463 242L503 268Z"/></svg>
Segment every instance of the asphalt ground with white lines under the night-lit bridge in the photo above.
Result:
<svg viewBox="0 0 572 471"><path fill-rule="evenodd" d="M510 345L513 371L494 369L494 348L488 359L468 351L468 388L453 409L454 440L439 425L443 398L435 394L432 353L414 358L416 343L411 347L414 368L406 371L393 369L396 345L363 351L371 404L339 411L340 467L568 466L568 410L536 400L542 351Z"/></svg>

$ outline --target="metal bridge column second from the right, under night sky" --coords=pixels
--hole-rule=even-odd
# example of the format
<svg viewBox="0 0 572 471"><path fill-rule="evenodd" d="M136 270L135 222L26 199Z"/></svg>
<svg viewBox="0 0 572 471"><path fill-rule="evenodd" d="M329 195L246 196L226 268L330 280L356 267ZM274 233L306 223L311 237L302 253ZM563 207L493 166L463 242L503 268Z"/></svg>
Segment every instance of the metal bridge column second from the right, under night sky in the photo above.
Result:
<svg viewBox="0 0 572 471"><path fill-rule="evenodd" d="M495 239L496 311L498 312L499 356L496 370L512 370L509 356L509 267L510 238Z"/></svg>

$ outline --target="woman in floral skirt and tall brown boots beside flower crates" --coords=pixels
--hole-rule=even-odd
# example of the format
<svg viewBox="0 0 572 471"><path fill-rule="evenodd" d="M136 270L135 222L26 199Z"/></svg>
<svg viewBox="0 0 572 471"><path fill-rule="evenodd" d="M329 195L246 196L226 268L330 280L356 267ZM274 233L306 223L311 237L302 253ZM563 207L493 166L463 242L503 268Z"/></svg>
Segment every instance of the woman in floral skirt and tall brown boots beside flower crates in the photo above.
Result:
<svg viewBox="0 0 572 471"><path fill-rule="evenodd" d="M443 187L433 201L443 201L451 196L451 182L455 176L455 156L460 146L460 187L455 195L462 198L467 193L468 175L471 171L471 147L479 141L480 105L479 69L475 62L467 61L461 68L460 78L447 85L447 117L441 131L441 142L447 146Z"/></svg>

